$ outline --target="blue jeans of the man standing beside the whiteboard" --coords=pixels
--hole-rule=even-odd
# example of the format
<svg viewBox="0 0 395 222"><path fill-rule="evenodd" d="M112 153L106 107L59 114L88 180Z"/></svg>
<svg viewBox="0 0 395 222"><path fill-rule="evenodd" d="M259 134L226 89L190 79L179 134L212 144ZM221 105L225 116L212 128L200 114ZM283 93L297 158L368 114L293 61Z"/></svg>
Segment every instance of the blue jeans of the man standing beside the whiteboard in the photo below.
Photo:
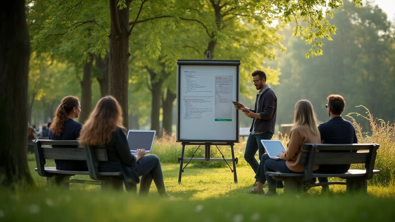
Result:
<svg viewBox="0 0 395 222"><path fill-rule="evenodd" d="M261 143L261 139L271 139L273 134L271 132L265 132L263 134L252 135L250 134L247 139L246 151L244 152L244 159L250 164L251 168L256 171L258 170L259 163L255 158L256 151L258 152L259 159L265 153L265 149Z"/></svg>

